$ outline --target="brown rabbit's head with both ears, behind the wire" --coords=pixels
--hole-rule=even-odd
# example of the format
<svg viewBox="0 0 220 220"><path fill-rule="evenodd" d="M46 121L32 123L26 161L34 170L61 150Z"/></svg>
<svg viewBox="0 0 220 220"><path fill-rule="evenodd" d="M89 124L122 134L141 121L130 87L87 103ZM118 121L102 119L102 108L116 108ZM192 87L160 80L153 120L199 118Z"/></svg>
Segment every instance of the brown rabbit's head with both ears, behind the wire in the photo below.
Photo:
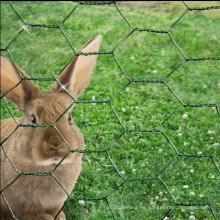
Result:
<svg viewBox="0 0 220 220"><path fill-rule="evenodd" d="M101 40L101 35L96 36L80 52L97 52ZM22 153L35 164L57 164L64 156L62 163L70 163L76 155L69 153L70 150L84 148L83 137L71 118L71 111L74 100L89 84L96 60L97 55L76 56L62 71L54 88L40 91L21 68L1 55L1 94L23 112L24 116L18 118L19 124L36 124L21 126L21 140L16 147L23 146ZM49 125L38 127L39 124Z"/></svg>

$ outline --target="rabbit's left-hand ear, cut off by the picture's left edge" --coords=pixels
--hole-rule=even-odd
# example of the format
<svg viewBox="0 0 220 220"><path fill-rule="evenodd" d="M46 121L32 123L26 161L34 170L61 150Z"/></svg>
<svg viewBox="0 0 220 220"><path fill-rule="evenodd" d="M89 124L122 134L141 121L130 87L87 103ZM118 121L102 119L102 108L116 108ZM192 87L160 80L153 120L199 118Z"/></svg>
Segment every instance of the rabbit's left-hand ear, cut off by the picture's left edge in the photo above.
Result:
<svg viewBox="0 0 220 220"><path fill-rule="evenodd" d="M29 78L22 69L19 67L18 69L22 76ZM6 93L5 97L14 102L20 110L24 111L24 105L27 100L38 92L39 89L31 80L22 80L22 82L16 86L21 80L22 78L11 60L1 55L1 94L4 95ZM16 87L12 89L14 86ZM8 92L10 89L12 90Z"/></svg>

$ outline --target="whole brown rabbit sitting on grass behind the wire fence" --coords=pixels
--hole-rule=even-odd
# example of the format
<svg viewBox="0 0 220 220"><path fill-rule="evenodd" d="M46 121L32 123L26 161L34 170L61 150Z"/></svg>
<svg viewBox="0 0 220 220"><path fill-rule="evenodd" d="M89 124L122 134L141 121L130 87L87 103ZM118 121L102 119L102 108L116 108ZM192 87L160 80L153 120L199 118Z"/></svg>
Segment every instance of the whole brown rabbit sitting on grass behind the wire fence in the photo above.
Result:
<svg viewBox="0 0 220 220"><path fill-rule="evenodd" d="M101 35L96 36L80 52L99 51L101 40ZM22 80L6 93L21 81L21 77L13 63L1 55L1 94L5 94L23 112L23 117L16 118L17 123L54 124L74 102L64 87L77 99L89 84L96 60L97 55L75 57L58 78L62 86L57 83L50 91L40 91L31 80ZM28 77L22 69L18 69L21 75ZM84 149L83 136L71 119L72 108L57 121L55 127L19 126L16 129L14 119L1 121L1 219L13 218L3 197L14 217L23 220L54 219L63 206L67 193L71 193L80 174L83 155L70 152L61 135L71 149ZM65 156L55 169L54 176L24 175L28 172L52 172ZM19 175L19 172L25 173ZM13 182L15 178L17 180ZM60 212L57 219L65 219L64 213Z"/></svg>

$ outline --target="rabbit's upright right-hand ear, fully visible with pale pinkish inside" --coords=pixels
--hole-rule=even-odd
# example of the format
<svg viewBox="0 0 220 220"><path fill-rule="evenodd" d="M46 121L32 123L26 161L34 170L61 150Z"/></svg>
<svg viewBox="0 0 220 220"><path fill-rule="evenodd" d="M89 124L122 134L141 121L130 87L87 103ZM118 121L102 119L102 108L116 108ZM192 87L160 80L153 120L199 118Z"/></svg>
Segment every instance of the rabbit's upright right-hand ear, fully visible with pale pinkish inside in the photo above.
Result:
<svg viewBox="0 0 220 220"><path fill-rule="evenodd" d="M102 36L98 35L83 46L80 52L98 52ZM98 55L79 55L75 57L59 76L59 82L67 91L77 99L83 90L88 86ZM63 88L57 83L56 90Z"/></svg>

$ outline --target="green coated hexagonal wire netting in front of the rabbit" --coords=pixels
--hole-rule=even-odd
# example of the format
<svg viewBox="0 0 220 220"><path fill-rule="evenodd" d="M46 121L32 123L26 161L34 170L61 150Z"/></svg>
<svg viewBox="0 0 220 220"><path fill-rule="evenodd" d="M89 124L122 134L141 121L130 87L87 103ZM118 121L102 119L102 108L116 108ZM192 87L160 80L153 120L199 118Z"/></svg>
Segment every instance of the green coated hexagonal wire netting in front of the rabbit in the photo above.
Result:
<svg viewBox="0 0 220 220"><path fill-rule="evenodd" d="M146 29L146 28L138 28L138 27L133 27L131 25L131 23L126 19L126 17L122 14L122 12L120 11L120 9L117 6L117 3L115 1L103 1L103 2L92 2L92 1L79 1L78 4L72 9L72 11L64 18L64 20L62 21L62 23L60 25L45 25L45 24L31 24L31 23L27 23L23 20L23 18L19 15L19 13L16 11L16 9L13 6L12 2L9 2L11 9L14 11L14 13L17 15L18 19L21 20L21 22L24 24L23 28L15 35L14 38L12 38L12 40L8 43L8 45L6 46L6 48L1 48L1 51L6 51L11 59L11 61L13 62L14 66L16 67L11 54L10 54L10 45L19 37L19 35L24 31L26 26L30 26L30 27L41 27L41 28L56 28L56 29L60 29L61 33L63 34L63 36L65 37L66 41L68 42L69 46L71 47L71 49L74 52L74 56L80 56L80 55L84 55L84 56L89 56L89 55L97 55L97 54L103 54L103 55L108 55L111 54L116 62L116 64L118 65L118 67L120 68L121 72L124 74L124 76L127 79L127 84L124 88L122 88L120 91L118 91L116 94L112 95L112 97L109 100L98 100L98 101L76 101L74 99L74 97L72 97L72 95L64 88L65 92L73 99L73 103L68 107L68 109L66 109L66 111L63 112L63 114L61 114L58 119L55 121L54 124L37 124L37 125L33 125L33 124L19 124L16 121L16 118L13 116L10 108L8 107L7 103L5 102L5 95L10 92L12 89L14 89L15 87L17 87L23 80L39 80L39 81L57 81L57 83L60 84L58 77L57 78L37 78L37 77L30 77L30 78L26 78L23 77L20 72L19 69L16 67L17 72L19 74L19 76L21 77L21 81L15 85L13 88L11 88L10 90L8 90L5 94L3 94L1 96L1 100L3 100L6 108L8 109L10 115L12 116L12 118L14 119L14 121L17 124L17 127L14 129L14 131L5 139L1 142L1 148L3 150L4 155L7 157L7 159L10 161L12 167L14 168L14 170L18 173L18 176L5 188L1 189L0 194L3 198L3 200L5 201L8 209L10 210L12 216L14 219L17 219L13 213L13 210L11 210L10 205L7 202L7 199L4 196L4 191L10 187L15 181L17 181L17 179L20 178L20 176L22 175L35 175L35 176L52 176L55 181L60 185L60 187L62 187L62 189L64 190L64 192L67 194L68 199L65 201L65 203L63 204L62 208L59 210L59 212L57 213L57 215L55 216L55 219L57 219L59 213L64 209L64 207L66 206L67 203L75 201L75 200L103 200L106 205L108 206L111 214L112 214L112 218L116 219L114 216L114 213L112 211L112 208L108 202L108 197L113 194L115 191L119 190L119 188L124 185L127 181L138 181L138 180L158 180L160 181L160 183L163 185L163 187L165 188L165 190L168 192L168 194L170 195L170 197L172 198L173 202L174 202L174 206L171 207L168 212L163 216L162 219L164 219L166 216L169 215L169 213L172 211L173 208L175 208L175 206L179 207L179 206L202 206L202 207L208 207L208 209L210 210L212 216L214 217L214 219L217 219L216 215L214 214L213 210L212 210L212 205L210 203L206 203L206 204L182 204L182 203L177 203L176 199L174 198L174 196L172 195L172 193L169 191L169 189L167 188L166 184L163 182L162 178L161 178L161 174L178 158L178 157L207 157L207 158L211 158L212 163L215 165L217 171L220 173L220 170L215 162L214 159L214 155L188 155L188 154L180 154L178 152L178 150L176 149L176 147L173 145L173 143L171 142L171 140L163 133L162 126L163 124L172 116L174 115L180 108L185 108L185 107L214 107L216 108L217 113L220 115L219 112L219 107L218 104L184 104L182 102L182 100L174 93L174 91L169 87L169 85L166 83L167 78L169 78L170 75L172 75L173 72L175 72L180 66L182 66L182 64L184 62L191 62L191 61L206 61L206 60L220 60L220 57L197 57L197 58L190 58L190 57L186 57L185 54L183 53L183 51L181 50L181 48L178 46L178 44L175 42L175 40L173 39L170 30L188 13L188 11L193 11L193 10L212 10L212 9L220 9L220 6L211 6L211 7L194 7L191 8L187 5L187 3L183 2L183 4L186 7L186 10L184 11L184 13L167 29L167 30L155 30L155 29ZM125 22L129 25L129 27L131 28L131 32L124 37L124 39L122 39L117 45L115 45L114 49L112 51L105 51L105 52L93 52L93 53L77 53L74 50L74 47L72 46L71 42L69 41L67 35L65 34L64 30L62 29L63 24L65 23L65 21L72 15L72 13L74 13L74 11L80 6L80 5L109 5L112 4L114 5L114 7L117 9L118 13L121 15L122 19L125 20ZM173 44L176 46L176 48L178 49L178 51L180 52L180 54L183 57L183 60L168 74L168 76L163 79L163 80L135 80L135 79L130 79L128 77L128 75L126 74L126 72L123 70L123 68L121 67L121 65L119 64L114 52L115 50L118 48L118 46L123 43L124 41L126 41L127 38L129 38L134 32L154 32L156 34L168 34L171 41L173 42ZM70 59L70 61L72 60L72 58ZM67 66L68 64L66 64ZM65 67L66 67L65 66ZM64 68L65 68L64 67ZM64 69L63 68L63 69ZM62 72L62 70L60 71L60 73ZM125 126L123 125L122 121L120 120L120 118L118 117L118 114L116 112L116 110L114 109L113 105L112 105L112 100L114 99L114 97L118 94L120 94L122 91L124 91L131 83L156 83L156 84L164 84L168 90L170 91L170 93L172 93L175 98L180 102L180 106L179 108L177 108L171 115L169 115L160 125L159 129L151 129L151 130L141 130L141 129L126 129ZM60 118L63 117L63 115L72 107L72 105L77 103L107 103L109 104L110 108L112 109L116 119L118 120L119 124L121 125L122 128L122 132L121 134L114 140L113 143L111 143L105 150L72 150L69 146L69 144L67 143L67 141L64 139L64 137L61 135L61 133L59 132L59 130L56 128L56 123L60 120ZM65 142L65 144L67 145L67 147L69 148L69 152L64 156L64 158L56 165L56 167L54 168L54 170L52 172L49 173L33 173L33 172L22 172L17 170L17 168L15 167L15 165L13 164L13 162L11 161L10 157L7 155L7 153L5 152L4 149L4 143L5 141L10 138L11 135L13 135L13 133L19 128L19 127L54 127L56 129L56 131L59 133L59 135L61 136L61 138L63 139L63 141ZM118 142L118 140L124 136L125 133L128 132L158 132L161 133L167 140L167 142L172 146L172 148L174 149L176 155L172 158L172 160L157 174L156 177L154 178L125 178L124 176L121 175L121 173L119 172L119 170L117 169L116 165L114 164L113 160L111 159L110 155L109 155L109 150L111 149L111 147ZM70 197L70 195L68 194L67 190L65 189L65 187L62 185L62 183L57 179L57 177L55 176L55 171L57 169L57 167L60 165L60 163L70 154L70 153L74 153L74 152L79 152L79 153L105 153L108 160L110 161L110 163L113 165L115 171L118 173L118 175L120 176L120 178L122 178L124 181L121 183L121 185L119 185L117 188L115 188L113 191L111 191L108 195L106 195L105 197L102 198L72 198Z"/></svg>

